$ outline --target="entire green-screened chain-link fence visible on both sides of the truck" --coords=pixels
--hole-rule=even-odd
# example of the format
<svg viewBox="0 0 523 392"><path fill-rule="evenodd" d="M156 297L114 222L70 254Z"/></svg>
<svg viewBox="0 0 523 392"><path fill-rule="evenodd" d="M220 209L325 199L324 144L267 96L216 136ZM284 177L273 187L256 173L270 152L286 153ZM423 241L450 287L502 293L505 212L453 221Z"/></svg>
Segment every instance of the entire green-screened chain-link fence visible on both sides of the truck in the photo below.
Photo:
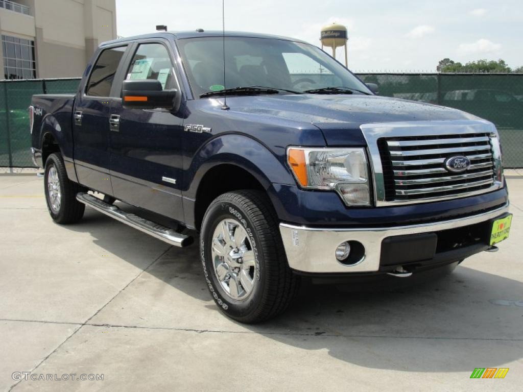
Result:
<svg viewBox="0 0 523 392"><path fill-rule="evenodd" d="M358 74L379 95L461 109L494 122L507 168L523 167L523 74ZM79 78L0 81L0 166L32 167L33 94L76 93Z"/></svg>

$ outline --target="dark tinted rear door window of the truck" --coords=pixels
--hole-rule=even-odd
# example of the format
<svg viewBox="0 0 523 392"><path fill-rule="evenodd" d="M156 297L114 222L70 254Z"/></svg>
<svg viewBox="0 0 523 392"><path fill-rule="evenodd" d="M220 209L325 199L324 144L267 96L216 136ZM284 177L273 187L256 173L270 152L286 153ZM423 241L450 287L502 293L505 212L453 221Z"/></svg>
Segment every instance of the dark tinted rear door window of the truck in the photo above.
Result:
<svg viewBox="0 0 523 392"><path fill-rule="evenodd" d="M85 94L92 97L109 97L112 81L127 46L105 49L98 56L89 76Z"/></svg>

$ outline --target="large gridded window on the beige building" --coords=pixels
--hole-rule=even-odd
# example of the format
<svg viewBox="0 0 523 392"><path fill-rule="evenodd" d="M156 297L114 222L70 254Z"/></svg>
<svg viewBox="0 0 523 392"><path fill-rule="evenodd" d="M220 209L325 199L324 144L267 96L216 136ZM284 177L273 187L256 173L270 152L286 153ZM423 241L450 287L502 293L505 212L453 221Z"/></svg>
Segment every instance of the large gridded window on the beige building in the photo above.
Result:
<svg viewBox="0 0 523 392"><path fill-rule="evenodd" d="M35 41L2 36L4 77L6 79L35 79Z"/></svg>

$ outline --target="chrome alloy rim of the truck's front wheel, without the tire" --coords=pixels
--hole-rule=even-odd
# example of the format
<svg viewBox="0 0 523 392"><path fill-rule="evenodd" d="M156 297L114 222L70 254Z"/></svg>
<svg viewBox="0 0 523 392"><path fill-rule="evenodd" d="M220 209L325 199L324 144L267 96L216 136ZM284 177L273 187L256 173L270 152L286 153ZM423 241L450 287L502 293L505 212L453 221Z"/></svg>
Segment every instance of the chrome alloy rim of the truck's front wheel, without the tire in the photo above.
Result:
<svg viewBox="0 0 523 392"><path fill-rule="evenodd" d="M231 298L243 301L256 284L256 260L245 228L234 219L224 219L212 235L214 274Z"/></svg>

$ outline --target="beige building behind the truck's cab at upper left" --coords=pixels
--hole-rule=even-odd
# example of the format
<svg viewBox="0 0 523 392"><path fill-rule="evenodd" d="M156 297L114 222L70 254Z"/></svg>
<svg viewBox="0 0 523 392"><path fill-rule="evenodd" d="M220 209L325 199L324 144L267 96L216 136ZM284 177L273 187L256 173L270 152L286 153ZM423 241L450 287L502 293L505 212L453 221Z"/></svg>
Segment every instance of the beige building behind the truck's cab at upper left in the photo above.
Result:
<svg viewBox="0 0 523 392"><path fill-rule="evenodd" d="M82 76L116 38L115 0L0 0L0 79Z"/></svg>

